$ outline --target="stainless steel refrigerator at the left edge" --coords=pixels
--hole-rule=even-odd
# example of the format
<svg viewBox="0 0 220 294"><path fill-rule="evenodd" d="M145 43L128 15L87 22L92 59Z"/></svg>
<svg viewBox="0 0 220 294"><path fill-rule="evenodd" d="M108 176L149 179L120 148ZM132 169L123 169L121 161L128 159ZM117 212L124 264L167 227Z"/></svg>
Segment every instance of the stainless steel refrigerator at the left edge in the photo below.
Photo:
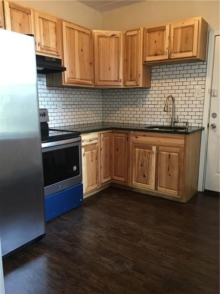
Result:
<svg viewBox="0 0 220 294"><path fill-rule="evenodd" d="M2 255L45 232L34 38L0 29L0 241Z"/></svg>

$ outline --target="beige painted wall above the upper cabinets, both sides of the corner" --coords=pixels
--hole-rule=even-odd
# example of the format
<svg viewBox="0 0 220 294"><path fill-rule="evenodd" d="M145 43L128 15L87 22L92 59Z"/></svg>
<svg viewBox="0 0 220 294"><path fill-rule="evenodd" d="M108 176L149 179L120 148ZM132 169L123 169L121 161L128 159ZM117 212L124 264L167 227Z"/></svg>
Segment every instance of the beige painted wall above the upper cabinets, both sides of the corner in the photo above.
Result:
<svg viewBox="0 0 220 294"><path fill-rule="evenodd" d="M91 29L126 30L202 16L213 30L220 30L218 0L145 0L103 13L76 0L15 1Z"/></svg>

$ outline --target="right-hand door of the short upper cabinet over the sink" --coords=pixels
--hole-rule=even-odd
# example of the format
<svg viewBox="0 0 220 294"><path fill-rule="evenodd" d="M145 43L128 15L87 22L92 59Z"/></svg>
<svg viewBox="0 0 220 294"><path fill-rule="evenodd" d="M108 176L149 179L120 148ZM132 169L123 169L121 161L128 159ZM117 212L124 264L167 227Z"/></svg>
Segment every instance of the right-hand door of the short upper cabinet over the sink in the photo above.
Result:
<svg viewBox="0 0 220 294"><path fill-rule="evenodd" d="M172 24L170 58L197 56L198 20Z"/></svg>

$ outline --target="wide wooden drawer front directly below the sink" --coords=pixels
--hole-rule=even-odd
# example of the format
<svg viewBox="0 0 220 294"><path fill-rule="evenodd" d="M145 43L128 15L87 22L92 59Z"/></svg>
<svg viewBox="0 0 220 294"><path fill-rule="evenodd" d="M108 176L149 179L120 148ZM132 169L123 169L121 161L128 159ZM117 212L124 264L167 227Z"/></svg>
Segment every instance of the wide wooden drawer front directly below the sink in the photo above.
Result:
<svg viewBox="0 0 220 294"><path fill-rule="evenodd" d="M135 132L132 133L132 143L184 147L184 135Z"/></svg>

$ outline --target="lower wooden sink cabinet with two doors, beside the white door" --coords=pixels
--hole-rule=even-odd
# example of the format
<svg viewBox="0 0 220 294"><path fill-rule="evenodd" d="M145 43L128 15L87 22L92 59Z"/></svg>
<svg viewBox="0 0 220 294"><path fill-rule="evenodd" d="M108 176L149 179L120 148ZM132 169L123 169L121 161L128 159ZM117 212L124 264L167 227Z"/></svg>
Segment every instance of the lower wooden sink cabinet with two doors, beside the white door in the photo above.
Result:
<svg viewBox="0 0 220 294"><path fill-rule="evenodd" d="M186 202L197 192L201 132L187 135L133 132L131 186Z"/></svg>

